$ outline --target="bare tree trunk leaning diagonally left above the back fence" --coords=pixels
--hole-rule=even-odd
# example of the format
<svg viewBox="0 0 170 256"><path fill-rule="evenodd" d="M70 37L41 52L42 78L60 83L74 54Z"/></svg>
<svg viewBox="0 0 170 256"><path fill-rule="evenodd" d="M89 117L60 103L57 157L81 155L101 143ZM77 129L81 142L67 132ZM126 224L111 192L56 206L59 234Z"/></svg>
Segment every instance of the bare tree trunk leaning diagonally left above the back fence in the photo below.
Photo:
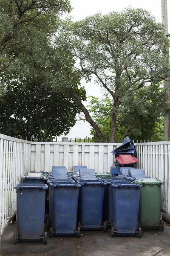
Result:
<svg viewBox="0 0 170 256"><path fill-rule="evenodd" d="M96 132L97 142L104 142L104 137L102 134L102 131L100 130L99 126L93 121L91 118L87 108L82 104L81 99L79 96L74 92L74 90L71 87L67 88L68 93L70 94L71 98L75 100L81 111L85 114L85 119L89 124L94 128Z"/></svg>

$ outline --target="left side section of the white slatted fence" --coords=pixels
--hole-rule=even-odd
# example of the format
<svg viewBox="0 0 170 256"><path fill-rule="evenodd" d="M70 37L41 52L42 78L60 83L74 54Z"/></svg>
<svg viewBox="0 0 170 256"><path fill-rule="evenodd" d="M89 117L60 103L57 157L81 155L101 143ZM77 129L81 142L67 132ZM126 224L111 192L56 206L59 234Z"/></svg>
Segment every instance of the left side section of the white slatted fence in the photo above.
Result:
<svg viewBox="0 0 170 256"><path fill-rule="evenodd" d="M17 210L14 186L30 170L31 143L0 134L0 235Z"/></svg>

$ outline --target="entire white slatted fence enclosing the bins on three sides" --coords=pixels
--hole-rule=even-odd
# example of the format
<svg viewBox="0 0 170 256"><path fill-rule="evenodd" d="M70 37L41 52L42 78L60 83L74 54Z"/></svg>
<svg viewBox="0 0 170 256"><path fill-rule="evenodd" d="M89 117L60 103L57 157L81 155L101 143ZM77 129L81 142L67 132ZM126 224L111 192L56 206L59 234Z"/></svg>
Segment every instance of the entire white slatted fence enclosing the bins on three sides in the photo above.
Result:
<svg viewBox="0 0 170 256"><path fill-rule="evenodd" d="M109 172L111 154L120 143L28 142L0 134L0 234L16 213L14 185L30 171L49 172L52 166L86 165L96 172ZM136 143L139 163L147 176L159 178L162 186L162 211L170 215L170 141Z"/></svg>

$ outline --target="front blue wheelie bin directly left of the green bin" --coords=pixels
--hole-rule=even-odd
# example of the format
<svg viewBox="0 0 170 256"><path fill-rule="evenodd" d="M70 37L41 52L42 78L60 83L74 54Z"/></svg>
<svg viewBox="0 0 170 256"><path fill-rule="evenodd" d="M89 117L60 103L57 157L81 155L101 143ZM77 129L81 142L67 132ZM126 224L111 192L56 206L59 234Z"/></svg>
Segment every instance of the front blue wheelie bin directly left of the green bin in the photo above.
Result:
<svg viewBox="0 0 170 256"><path fill-rule="evenodd" d="M136 186L137 185L137 186ZM139 227L139 184L113 183L113 227L111 236L139 236L142 229Z"/></svg>

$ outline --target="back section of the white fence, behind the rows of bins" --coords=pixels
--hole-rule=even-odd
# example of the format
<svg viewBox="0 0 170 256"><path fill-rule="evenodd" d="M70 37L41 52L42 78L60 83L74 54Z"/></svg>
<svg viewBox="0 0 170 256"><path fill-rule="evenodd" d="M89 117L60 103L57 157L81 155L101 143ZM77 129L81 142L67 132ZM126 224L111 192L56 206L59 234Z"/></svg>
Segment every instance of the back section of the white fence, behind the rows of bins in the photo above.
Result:
<svg viewBox="0 0 170 256"><path fill-rule="evenodd" d="M52 166L85 165L96 172L110 172L113 165L111 151L120 143L31 143L31 171L49 172Z"/></svg>

